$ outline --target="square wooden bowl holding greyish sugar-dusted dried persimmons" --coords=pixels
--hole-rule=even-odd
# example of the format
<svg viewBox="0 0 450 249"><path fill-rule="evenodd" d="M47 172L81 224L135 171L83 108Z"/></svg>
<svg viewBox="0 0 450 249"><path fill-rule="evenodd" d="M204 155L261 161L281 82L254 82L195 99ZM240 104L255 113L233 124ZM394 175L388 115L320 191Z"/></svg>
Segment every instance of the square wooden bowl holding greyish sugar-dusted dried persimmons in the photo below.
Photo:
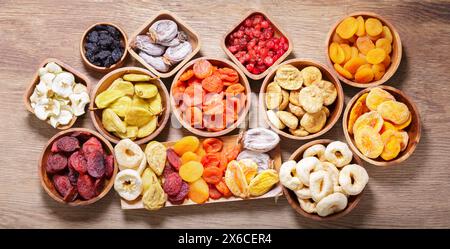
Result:
<svg viewBox="0 0 450 249"><path fill-rule="evenodd" d="M184 60L180 61L178 64L174 65L170 71L163 73L163 72L159 72L158 70L156 70L155 68L153 68L152 66L150 66L147 62L145 62L145 60L143 60L138 53L136 53L136 51L134 51L131 48L131 44L133 43L134 39L136 39L136 36L138 35L144 35L148 32L148 29L150 28L150 26L152 26L153 23L155 23L156 21L162 20L162 19L168 19L168 20L172 20L174 21L177 25L178 25L178 30L179 31L184 31L188 37L189 37L189 42L192 45L192 52L186 56L186 58L184 58ZM131 42L127 47L128 52L131 54L131 56L133 56L134 59L136 59L137 61L139 61L145 68L147 68L148 70L150 70L153 74L161 77L161 78L169 78L172 75L174 75L178 70L180 70L180 68L183 67L184 64L186 64L186 62L188 62L190 59L192 59L192 57L194 57L195 54L198 53L198 51L200 51L200 46L201 46L201 42L200 42L200 38L198 36L198 34L184 21L182 21L177 15L175 15L172 12L169 11L160 11L158 12L155 16L153 16L148 22L144 23L132 36L131 38Z"/></svg>

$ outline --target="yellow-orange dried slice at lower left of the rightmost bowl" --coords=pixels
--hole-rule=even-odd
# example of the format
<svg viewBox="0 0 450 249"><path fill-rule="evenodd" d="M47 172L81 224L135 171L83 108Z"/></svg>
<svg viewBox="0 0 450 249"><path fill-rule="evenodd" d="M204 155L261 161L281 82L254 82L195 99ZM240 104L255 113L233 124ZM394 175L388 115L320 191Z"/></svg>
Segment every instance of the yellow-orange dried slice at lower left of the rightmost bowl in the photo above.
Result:
<svg viewBox="0 0 450 249"><path fill-rule="evenodd" d="M355 133L356 147L369 158L377 158L383 152L381 135L373 127L364 125Z"/></svg>

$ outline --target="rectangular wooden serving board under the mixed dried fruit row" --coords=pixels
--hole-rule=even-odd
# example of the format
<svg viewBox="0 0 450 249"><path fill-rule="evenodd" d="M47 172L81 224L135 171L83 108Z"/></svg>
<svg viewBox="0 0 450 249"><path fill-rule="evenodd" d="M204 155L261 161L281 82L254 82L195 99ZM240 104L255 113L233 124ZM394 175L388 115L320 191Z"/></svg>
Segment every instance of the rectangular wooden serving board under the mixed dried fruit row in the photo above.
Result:
<svg viewBox="0 0 450 249"><path fill-rule="evenodd" d="M238 137L239 137L239 135L232 135L232 136L221 137L220 139L223 141L223 149L226 150L228 148L236 146ZM200 139L200 146L201 146L201 142L203 140L204 139ZM162 144L164 144L167 148L169 148L169 147L173 146L175 144L175 142L176 141L169 141L169 142L163 142ZM141 147L143 147L142 149L144 149L145 145L141 145ZM270 158L273 160L274 169L279 171L279 169L281 167L281 163L282 163L281 162L280 145L278 144L277 147L275 147L273 150L269 151L268 154L270 155ZM272 197L276 197L276 196L280 196L280 195L282 195L282 188L281 188L281 184L278 183L269 192L265 193L264 195L258 196L258 197L251 197L251 198L248 198L248 199L242 199L242 198L238 198L238 197L232 196L232 197L229 197L229 198L220 198L218 200L209 199L205 204L218 203L218 202L230 202L230 201L243 201L243 200L252 200L252 199L272 198ZM121 208L122 209L143 209L144 205L142 203L141 197L139 197L138 199L136 199L134 201L126 201L124 199L120 199ZM169 201L167 201L165 207L188 206L188 205L203 205L203 204L197 204L197 203L187 199L181 205L173 205Z"/></svg>

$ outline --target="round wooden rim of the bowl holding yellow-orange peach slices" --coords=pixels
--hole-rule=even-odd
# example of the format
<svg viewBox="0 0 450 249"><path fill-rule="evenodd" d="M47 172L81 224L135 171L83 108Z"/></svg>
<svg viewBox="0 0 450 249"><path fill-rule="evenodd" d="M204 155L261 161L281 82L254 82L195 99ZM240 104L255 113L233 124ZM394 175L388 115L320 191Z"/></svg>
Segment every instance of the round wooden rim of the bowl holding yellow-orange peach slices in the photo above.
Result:
<svg viewBox="0 0 450 249"><path fill-rule="evenodd" d="M375 160L375 159L371 159L371 158L368 158L365 155L363 155L359 151L359 149L355 146L355 144L353 143L352 137L350 137L350 134L348 133L348 129L347 129L348 117L350 115L350 110L353 107L353 105L355 104L356 100L364 93L367 93L376 87L379 87L383 90L388 91L390 94L394 95L394 97L396 97L396 95L400 95L403 99L405 99L407 102L405 104L407 104L408 107L411 106L411 108L412 108L412 110L410 110L410 112L411 112L411 115L413 115L413 117L412 117L413 121L414 121L414 119L417 120L417 136L414 139L414 141L411 141L411 138L409 138L408 144L412 143L412 145L411 145L408 153L404 153L401 157L397 157L390 161ZM397 99L397 97L396 97L396 99ZM413 121L411 121L411 123ZM342 129L344 132L345 140L346 140L347 144L349 145L350 149L354 153L356 153L362 160L366 161L367 163L375 165L375 166L381 166L381 167L398 165L401 162L408 159L414 153L417 145L419 144L420 137L422 134L422 125L420 123L420 113L419 113L419 109L417 108L416 104L413 101L411 101L411 99L400 89L397 89L392 86L387 86L387 85L380 85L380 86L365 88L365 89L362 89L361 91L359 91L357 94L355 94L355 96L353 96L350 99L350 101L347 103L347 106L345 107L344 115L342 116Z"/></svg>

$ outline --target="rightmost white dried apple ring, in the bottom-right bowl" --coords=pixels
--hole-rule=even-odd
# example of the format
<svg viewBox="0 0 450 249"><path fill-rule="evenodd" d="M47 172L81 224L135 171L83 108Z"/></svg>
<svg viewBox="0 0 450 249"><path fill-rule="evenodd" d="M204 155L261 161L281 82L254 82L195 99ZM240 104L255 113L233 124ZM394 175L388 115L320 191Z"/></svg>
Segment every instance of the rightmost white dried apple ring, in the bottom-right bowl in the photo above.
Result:
<svg viewBox="0 0 450 249"><path fill-rule="evenodd" d="M368 182L367 171L358 164L349 164L339 172L339 184L349 195L360 194Z"/></svg>

